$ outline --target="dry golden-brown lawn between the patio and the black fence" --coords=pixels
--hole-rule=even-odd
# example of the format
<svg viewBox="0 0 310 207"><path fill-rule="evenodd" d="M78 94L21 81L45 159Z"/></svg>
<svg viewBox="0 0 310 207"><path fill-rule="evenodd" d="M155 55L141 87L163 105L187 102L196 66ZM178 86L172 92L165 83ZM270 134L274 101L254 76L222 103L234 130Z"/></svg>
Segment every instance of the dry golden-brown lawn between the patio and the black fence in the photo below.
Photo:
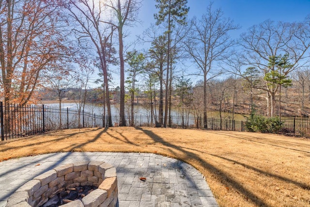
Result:
<svg viewBox="0 0 310 207"><path fill-rule="evenodd" d="M150 152L196 167L220 206L310 206L310 140L149 127L61 130L0 143L0 160L69 151Z"/></svg>

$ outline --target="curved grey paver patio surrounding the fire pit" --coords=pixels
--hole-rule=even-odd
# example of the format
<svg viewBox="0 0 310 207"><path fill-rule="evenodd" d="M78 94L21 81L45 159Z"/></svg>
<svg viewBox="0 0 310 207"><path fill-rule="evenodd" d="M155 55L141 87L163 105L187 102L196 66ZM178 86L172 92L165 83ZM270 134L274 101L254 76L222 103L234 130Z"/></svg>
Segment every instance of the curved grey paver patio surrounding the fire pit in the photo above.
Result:
<svg viewBox="0 0 310 207"><path fill-rule="evenodd" d="M104 161L116 168L119 207L218 206L202 174L180 160L150 153L73 152L0 162L0 207L35 176L80 161Z"/></svg>

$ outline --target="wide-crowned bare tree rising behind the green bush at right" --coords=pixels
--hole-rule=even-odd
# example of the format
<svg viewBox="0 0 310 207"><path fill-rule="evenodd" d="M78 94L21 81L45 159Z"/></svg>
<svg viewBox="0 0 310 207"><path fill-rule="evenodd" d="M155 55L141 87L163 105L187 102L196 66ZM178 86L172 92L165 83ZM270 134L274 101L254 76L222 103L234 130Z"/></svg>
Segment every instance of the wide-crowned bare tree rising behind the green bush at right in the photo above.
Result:
<svg viewBox="0 0 310 207"><path fill-rule="evenodd" d="M309 22L308 22L309 24ZM272 58L288 56L290 67L281 69L280 75L288 77L297 68L305 66L310 57L307 53L310 47L310 27L307 21L300 23L275 23L266 20L259 25L254 25L248 32L241 34L242 54L239 60L246 67L256 67L263 77L276 72L276 64L270 65ZM239 70L240 71L240 70ZM281 84L270 84L269 79L264 79L262 85L252 85L253 88L266 92L267 115L273 116L276 106L275 96L279 93Z"/></svg>

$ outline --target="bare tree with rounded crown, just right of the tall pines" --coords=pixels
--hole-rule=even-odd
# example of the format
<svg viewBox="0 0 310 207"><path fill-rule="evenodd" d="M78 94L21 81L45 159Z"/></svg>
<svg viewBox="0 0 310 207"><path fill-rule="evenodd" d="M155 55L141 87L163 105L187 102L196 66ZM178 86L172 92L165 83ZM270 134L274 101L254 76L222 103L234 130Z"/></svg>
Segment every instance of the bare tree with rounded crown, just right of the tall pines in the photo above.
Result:
<svg viewBox="0 0 310 207"><path fill-rule="evenodd" d="M185 45L193 62L202 72L203 126L207 127L207 82L221 74L214 66L227 58L229 48L235 44L228 32L238 29L239 26L234 25L230 18L225 18L221 9L214 11L212 3L201 19L194 17L190 25Z"/></svg>

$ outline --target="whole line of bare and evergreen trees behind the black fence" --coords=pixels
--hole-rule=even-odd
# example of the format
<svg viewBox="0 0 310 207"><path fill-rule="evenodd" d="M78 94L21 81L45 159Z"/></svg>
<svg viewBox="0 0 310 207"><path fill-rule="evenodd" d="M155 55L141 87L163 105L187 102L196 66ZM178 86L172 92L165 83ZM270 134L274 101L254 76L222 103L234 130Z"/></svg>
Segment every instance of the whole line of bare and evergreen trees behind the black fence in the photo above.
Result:
<svg viewBox="0 0 310 207"><path fill-rule="evenodd" d="M222 111L233 118L252 109L308 116L310 16L266 20L233 39L230 33L240 26L212 3L201 17L188 19L187 0L155 2L155 25L133 44L126 31L136 26L141 0L0 1L4 103L26 105L51 90L61 107L71 91L79 110L100 100L104 117L119 103L120 126L126 125L127 106L133 122L139 99L163 127L171 125L175 108L183 117L202 117L205 127L210 110L221 119ZM135 48L138 43L148 47ZM95 69L101 87L90 90ZM114 73L120 82L112 89ZM193 84L189 76L201 81Z"/></svg>

